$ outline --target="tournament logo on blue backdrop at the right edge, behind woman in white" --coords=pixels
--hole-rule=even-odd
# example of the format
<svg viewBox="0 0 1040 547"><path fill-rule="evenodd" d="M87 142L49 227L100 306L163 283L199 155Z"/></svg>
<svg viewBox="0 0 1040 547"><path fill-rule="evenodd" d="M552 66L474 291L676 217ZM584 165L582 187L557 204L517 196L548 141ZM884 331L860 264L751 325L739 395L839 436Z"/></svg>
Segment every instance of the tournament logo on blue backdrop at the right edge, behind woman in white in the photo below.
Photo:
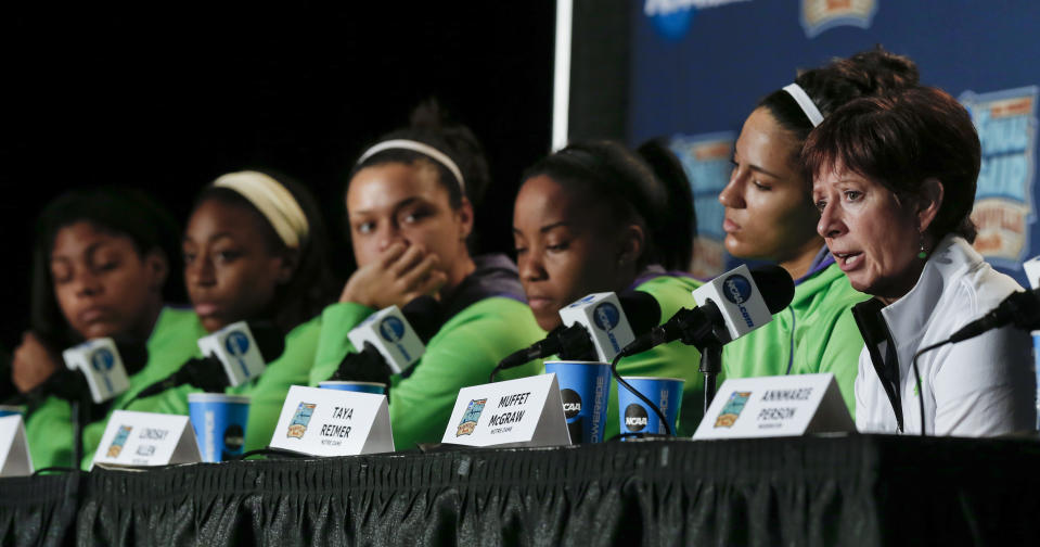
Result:
<svg viewBox="0 0 1040 547"><path fill-rule="evenodd" d="M994 266L1020 269L1029 253L1037 86L990 93L965 91L960 101L972 113L983 144L983 166L972 219L975 250Z"/></svg>

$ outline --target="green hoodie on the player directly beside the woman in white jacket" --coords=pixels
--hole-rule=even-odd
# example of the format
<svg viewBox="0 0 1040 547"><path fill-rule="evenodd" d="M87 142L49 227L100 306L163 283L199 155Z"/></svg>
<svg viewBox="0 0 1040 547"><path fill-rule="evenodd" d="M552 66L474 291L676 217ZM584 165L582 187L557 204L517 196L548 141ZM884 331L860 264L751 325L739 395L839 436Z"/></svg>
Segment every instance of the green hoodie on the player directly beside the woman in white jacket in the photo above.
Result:
<svg viewBox="0 0 1040 547"><path fill-rule="evenodd" d="M728 378L833 372L856 416L853 383L863 338L851 307L869 296L852 289L832 259L795 285L791 306L773 320L722 348Z"/></svg>

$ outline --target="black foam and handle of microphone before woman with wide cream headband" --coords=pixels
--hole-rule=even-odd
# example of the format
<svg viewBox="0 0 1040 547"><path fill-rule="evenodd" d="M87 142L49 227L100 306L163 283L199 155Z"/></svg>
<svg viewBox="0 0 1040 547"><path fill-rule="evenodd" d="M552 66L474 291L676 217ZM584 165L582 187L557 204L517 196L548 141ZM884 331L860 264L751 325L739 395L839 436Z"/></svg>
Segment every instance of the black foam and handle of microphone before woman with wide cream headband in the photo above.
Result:
<svg viewBox="0 0 1040 547"><path fill-rule="evenodd" d="M265 362L271 362L281 357L285 352L285 338L281 330L269 321L249 321L247 323L253 340L256 341L257 349ZM144 397L158 395L167 390L179 385L190 384L200 387L207 393L221 393L224 387L232 385L232 379L228 377L223 364L217 357L216 353L210 353L205 357L194 357L184 361L184 364L174 372L158 382L145 387L140 393L128 400L124 408L130 403Z"/></svg>

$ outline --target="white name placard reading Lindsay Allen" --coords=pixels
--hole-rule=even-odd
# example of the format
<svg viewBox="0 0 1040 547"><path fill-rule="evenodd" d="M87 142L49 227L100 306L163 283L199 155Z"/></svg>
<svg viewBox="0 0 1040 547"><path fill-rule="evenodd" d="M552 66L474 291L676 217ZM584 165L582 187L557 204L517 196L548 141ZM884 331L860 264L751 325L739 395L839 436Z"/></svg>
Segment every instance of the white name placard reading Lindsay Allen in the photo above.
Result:
<svg viewBox="0 0 1040 547"><path fill-rule="evenodd" d="M202 461L187 416L116 410L108 418L93 466L153 467Z"/></svg>

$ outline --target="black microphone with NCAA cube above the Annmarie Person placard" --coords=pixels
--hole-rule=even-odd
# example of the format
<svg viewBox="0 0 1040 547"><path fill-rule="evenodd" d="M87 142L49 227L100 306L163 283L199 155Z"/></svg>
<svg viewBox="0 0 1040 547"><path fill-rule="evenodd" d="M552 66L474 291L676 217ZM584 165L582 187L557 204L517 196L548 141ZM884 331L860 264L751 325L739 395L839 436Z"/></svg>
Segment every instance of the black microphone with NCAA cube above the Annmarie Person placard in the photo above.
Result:
<svg viewBox="0 0 1040 547"><path fill-rule="evenodd" d="M712 292L723 294L723 298L709 296L696 308L680 309L664 325L625 346L621 355L628 357L643 353L673 340L695 346L707 342L722 345L769 322L773 314L791 304L795 295L794 281L787 270L773 265L758 266L750 270L750 276L748 282L743 276L730 271L709 281L694 291L694 296L705 291L709 295ZM753 308L753 303L758 301L765 303L768 316L761 313L763 310Z"/></svg>

